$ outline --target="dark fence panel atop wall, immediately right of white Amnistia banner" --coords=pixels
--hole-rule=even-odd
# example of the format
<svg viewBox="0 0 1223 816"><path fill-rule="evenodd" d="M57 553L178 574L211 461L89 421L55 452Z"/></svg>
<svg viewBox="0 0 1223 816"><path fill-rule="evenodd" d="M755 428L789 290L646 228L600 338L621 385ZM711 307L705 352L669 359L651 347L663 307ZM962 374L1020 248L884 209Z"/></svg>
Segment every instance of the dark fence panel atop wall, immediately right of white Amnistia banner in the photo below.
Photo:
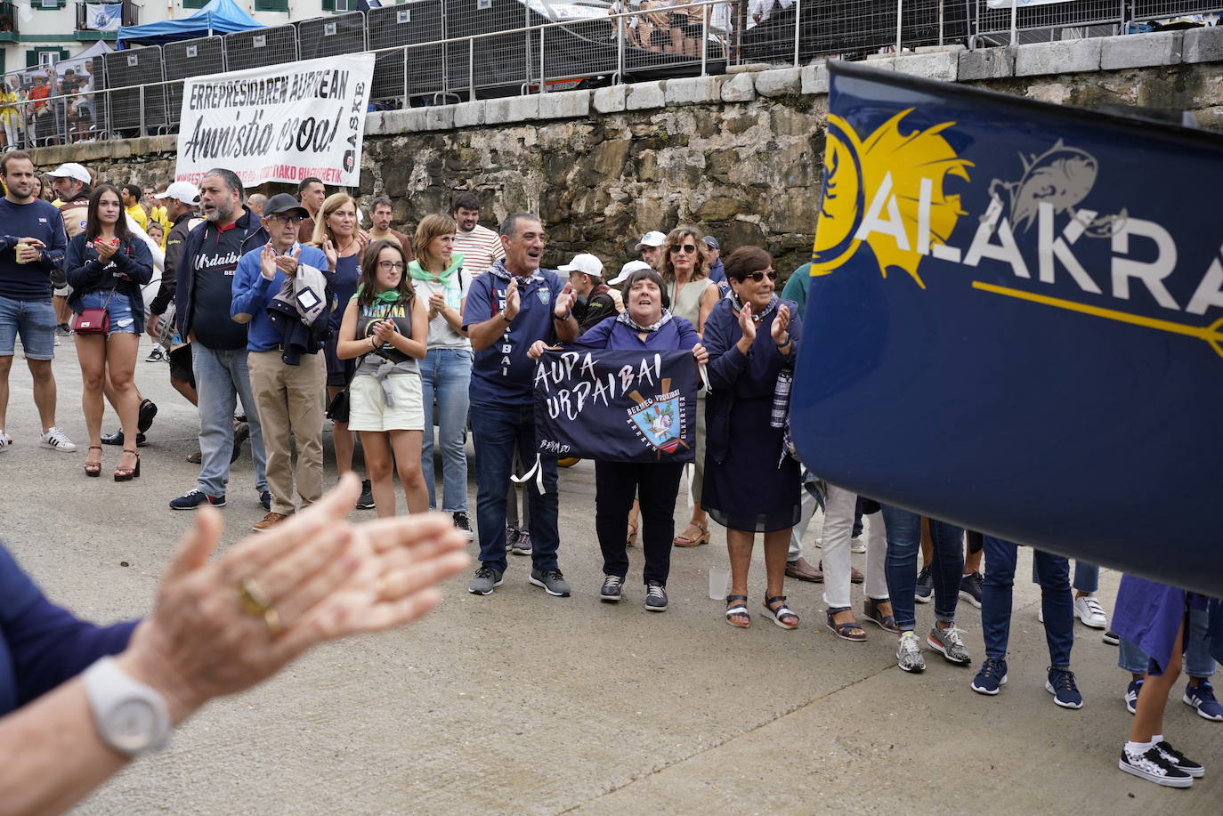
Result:
<svg viewBox="0 0 1223 816"><path fill-rule="evenodd" d="M435 43L445 38L443 0L408 0L397 6L371 9L366 27L372 50ZM442 45L424 45L378 54L369 100L383 106L407 106L405 97L443 92L442 53Z"/></svg>

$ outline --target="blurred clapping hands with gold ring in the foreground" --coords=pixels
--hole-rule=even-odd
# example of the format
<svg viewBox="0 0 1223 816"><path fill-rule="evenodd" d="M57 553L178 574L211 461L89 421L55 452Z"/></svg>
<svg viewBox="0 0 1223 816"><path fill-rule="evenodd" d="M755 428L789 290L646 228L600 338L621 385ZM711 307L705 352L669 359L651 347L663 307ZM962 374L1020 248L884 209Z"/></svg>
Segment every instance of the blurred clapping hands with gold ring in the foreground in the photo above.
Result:
<svg viewBox="0 0 1223 816"><path fill-rule="evenodd" d="M199 510L120 666L160 691L177 723L312 646L427 614L442 599L437 584L468 562L462 536L439 514L353 526L345 516L360 491L346 473L308 509L214 560L221 516Z"/></svg>

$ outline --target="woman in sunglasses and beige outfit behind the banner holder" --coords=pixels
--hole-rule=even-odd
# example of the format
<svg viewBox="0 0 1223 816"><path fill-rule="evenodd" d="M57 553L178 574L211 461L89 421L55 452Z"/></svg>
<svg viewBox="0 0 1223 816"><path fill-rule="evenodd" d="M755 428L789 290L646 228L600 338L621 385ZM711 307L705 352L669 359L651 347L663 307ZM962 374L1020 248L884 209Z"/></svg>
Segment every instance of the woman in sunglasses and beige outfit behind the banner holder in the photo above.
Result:
<svg viewBox="0 0 1223 816"><path fill-rule="evenodd" d="M718 285L709 279L709 248L695 226L676 226L667 236L658 270L667 284L671 314L692 324L697 334L718 302ZM692 477L692 519L675 536L676 547L698 547L709 543L709 520L701 506L701 482L704 478L704 394L697 398L696 465ZM630 530L637 525L630 520Z"/></svg>

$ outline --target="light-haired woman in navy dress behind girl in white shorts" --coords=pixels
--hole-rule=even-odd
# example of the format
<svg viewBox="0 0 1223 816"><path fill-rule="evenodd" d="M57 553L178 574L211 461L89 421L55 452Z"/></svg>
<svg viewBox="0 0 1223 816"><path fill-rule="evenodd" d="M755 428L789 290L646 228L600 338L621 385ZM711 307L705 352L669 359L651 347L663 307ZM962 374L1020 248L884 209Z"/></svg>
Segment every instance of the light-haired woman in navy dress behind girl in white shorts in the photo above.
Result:
<svg viewBox="0 0 1223 816"><path fill-rule="evenodd" d="M357 202L349 193L338 192L328 196L318 210L314 223L314 235L311 246L327 254L328 262L335 269L335 300L331 308L331 338L323 347L327 360L327 400L330 404L336 394L342 391L352 379L353 365L336 355L336 338L340 330L340 318L344 307L357 290L361 278L361 253L366 248L366 236L357 228ZM352 449L355 442L347 422L333 420L331 442L335 444L335 466L344 473L352 470ZM357 506L368 510L373 506L368 480L361 484L361 498Z"/></svg>

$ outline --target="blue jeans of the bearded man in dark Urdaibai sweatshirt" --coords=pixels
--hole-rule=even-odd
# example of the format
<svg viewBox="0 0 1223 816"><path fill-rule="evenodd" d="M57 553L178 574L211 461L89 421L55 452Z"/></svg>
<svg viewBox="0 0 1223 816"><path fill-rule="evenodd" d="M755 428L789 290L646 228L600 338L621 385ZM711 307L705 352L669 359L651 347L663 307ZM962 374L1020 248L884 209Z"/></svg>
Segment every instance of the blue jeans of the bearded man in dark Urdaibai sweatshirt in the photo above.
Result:
<svg viewBox="0 0 1223 816"><path fill-rule="evenodd" d="M268 489L263 458L263 429L251 394L246 349L209 349L198 340L191 344L191 365L199 394L199 491L225 495L229 460L234 453L234 407L242 400L251 426L251 459L254 460L254 489ZM323 399L319 395L319 399Z"/></svg>

